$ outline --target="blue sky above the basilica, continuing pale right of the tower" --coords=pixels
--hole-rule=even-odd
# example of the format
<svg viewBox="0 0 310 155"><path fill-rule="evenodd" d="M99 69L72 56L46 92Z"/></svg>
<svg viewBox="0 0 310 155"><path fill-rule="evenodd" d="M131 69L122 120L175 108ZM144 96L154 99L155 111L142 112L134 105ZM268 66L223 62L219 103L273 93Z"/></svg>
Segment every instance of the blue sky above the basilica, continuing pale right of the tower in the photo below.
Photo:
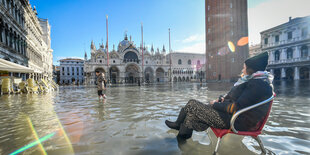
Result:
<svg viewBox="0 0 310 155"><path fill-rule="evenodd" d="M273 5L271 2L279 5L283 1L289 3L308 0L248 0L249 18L268 12L264 10L264 5ZM149 49L153 44L160 49L165 45L168 50L168 28L171 29L172 50L203 53L205 49L205 0L30 0L30 3L36 6L38 17L47 18L51 24L55 64L64 57L83 58L84 50L89 56L91 40L94 40L97 48L102 40L105 43L106 15L109 16L109 49L112 49L113 44L117 47L119 41L123 40L125 31L139 46L141 22L144 27L144 42ZM270 11L275 12L277 8L278 6L271 6ZM276 24L286 21L286 14L290 10L282 13L283 18L279 17L281 21L270 21ZM251 38L256 38L254 42L258 42L259 32L263 28L276 26L274 23L268 25L263 22L266 18L271 16L264 16L262 19L255 16L252 24L249 20L250 41ZM251 37L251 33L255 37Z"/></svg>

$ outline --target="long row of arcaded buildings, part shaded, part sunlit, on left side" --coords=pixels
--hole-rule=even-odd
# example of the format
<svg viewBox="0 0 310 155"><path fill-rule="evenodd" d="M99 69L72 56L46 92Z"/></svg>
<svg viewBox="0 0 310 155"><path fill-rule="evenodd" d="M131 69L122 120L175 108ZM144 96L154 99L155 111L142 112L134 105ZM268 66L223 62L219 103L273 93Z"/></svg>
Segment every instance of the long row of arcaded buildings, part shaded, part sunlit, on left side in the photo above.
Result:
<svg viewBox="0 0 310 155"><path fill-rule="evenodd" d="M33 69L35 79L52 79L50 31L28 0L0 0L0 58Z"/></svg>

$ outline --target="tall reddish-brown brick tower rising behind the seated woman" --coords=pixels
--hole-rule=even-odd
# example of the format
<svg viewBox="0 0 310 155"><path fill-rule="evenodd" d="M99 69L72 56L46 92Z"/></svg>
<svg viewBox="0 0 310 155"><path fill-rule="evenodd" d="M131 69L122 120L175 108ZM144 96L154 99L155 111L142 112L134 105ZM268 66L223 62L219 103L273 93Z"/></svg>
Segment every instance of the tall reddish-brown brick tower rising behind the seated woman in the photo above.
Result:
<svg viewBox="0 0 310 155"><path fill-rule="evenodd" d="M206 80L236 80L249 56L248 44L238 46L248 37L247 0L206 0L205 13Z"/></svg>

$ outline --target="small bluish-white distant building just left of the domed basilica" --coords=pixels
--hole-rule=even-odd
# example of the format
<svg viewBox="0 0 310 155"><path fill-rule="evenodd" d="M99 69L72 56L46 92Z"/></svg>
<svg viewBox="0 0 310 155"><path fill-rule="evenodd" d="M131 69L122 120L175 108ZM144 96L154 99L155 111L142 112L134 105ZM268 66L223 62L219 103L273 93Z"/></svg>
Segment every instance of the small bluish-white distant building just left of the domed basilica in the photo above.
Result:
<svg viewBox="0 0 310 155"><path fill-rule="evenodd" d="M59 60L59 62L59 84L84 83L84 60L76 58L66 58Z"/></svg>

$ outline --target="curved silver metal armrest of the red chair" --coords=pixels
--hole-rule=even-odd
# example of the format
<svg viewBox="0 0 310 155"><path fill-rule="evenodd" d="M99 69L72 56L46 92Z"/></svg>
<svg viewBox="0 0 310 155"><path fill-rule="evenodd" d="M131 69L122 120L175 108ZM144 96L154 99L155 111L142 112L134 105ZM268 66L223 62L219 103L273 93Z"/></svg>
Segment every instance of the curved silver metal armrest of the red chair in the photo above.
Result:
<svg viewBox="0 0 310 155"><path fill-rule="evenodd" d="M251 106L246 107L246 108L243 108L243 109L241 109L241 110L238 110L238 111L231 117L231 120L230 120L231 130L232 130L234 133L238 133L238 131L235 129L234 124L235 124L235 121L236 121L237 117L238 117L240 114L242 114L242 113L244 113L244 112L246 112L246 111L249 111L249 110L251 110L251 109L253 109L253 108L256 108L256 107L258 107L258 106L261 106L261 105L263 105L263 104L266 104L266 103L270 102L271 100L273 100L274 96L275 96L275 94L273 94L270 98L268 98L268 99L265 100L265 101L262 101L262 102L259 102L259 103L257 103L257 104L251 105Z"/></svg>

